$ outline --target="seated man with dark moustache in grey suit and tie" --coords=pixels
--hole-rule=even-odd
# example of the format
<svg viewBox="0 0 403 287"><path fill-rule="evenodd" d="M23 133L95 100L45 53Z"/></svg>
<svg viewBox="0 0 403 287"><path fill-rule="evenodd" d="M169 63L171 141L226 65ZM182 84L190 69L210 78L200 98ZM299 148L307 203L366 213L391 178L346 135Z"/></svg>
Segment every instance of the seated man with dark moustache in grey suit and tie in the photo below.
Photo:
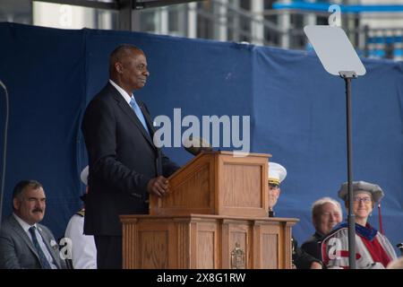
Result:
<svg viewBox="0 0 403 287"><path fill-rule="evenodd" d="M39 224L46 196L36 180L22 180L13 190L13 213L0 230L0 268L61 269L59 247L52 232Z"/></svg>

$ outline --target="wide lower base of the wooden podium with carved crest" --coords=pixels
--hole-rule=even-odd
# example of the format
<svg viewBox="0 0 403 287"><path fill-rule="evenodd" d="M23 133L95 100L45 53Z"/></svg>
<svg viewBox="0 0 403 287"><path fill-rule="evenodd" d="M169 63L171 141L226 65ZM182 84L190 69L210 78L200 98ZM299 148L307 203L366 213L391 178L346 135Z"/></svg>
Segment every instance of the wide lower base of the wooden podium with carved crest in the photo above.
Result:
<svg viewBox="0 0 403 287"><path fill-rule="evenodd" d="M121 222L124 268L291 268L296 219L122 215Z"/></svg>

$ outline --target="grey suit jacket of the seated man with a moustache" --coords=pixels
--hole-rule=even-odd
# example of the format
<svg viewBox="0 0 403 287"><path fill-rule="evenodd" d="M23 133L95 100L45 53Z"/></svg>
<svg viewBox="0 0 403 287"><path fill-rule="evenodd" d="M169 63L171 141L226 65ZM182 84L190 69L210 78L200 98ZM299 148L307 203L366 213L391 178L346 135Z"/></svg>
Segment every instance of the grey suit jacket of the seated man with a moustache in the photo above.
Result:
<svg viewBox="0 0 403 287"><path fill-rule="evenodd" d="M47 250L54 259L57 268L65 268L64 260L60 258L55 237L46 226L37 224L40 235L45 241ZM40 269L38 253L28 234L22 229L13 215L7 217L2 223L0 231L0 268L1 269Z"/></svg>

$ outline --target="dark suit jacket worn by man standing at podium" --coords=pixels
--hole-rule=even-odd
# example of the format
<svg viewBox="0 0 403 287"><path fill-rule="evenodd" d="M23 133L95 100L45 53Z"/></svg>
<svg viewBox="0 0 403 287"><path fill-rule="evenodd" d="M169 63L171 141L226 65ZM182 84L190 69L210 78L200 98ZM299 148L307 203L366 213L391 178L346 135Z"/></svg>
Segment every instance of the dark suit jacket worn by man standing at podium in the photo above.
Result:
<svg viewBox="0 0 403 287"><path fill-rule="evenodd" d="M137 102L151 136L110 83L85 111L81 129L90 162L85 234L121 236L120 214L149 213L150 179L168 177L179 169L155 147L150 114L141 101Z"/></svg>

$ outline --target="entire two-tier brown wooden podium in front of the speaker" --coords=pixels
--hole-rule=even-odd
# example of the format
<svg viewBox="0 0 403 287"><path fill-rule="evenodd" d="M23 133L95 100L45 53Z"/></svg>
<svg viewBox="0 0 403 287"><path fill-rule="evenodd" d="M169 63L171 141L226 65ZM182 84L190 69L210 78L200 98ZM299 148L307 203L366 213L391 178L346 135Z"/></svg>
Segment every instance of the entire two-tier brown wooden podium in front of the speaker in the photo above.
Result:
<svg viewBox="0 0 403 287"><path fill-rule="evenodd" d="M150 215L121 215L124 268L291 268L289 218L268 218L269 154L202 152L150 196Z"/></svg>

